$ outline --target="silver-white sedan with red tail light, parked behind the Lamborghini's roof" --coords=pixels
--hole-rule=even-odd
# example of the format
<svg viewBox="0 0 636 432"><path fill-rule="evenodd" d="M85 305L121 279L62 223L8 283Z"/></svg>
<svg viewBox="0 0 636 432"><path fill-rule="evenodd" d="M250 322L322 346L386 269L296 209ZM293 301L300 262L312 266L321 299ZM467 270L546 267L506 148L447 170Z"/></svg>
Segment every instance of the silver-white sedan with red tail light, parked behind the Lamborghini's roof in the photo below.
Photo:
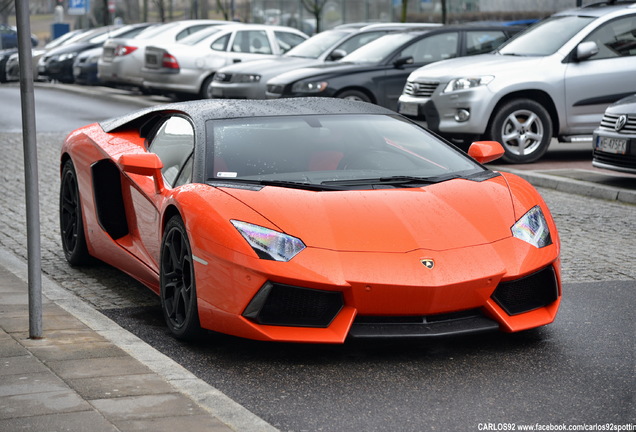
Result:
<svg viewBox="0 0 636 432"><path fill-rule="evenodd" d="M152 92L211 98L217 70L280 56L307 39L291 27L239 24L202 30L178 44L146 47L143 85Z"/></svg>

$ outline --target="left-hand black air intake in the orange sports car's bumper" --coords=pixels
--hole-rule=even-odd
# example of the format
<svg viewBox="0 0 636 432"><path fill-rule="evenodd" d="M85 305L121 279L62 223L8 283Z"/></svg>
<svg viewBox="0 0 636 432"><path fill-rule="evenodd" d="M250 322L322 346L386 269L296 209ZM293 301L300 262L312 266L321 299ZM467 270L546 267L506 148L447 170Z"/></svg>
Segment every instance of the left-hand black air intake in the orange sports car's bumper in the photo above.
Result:
<svg viewBox="0 0 636 432"><path fill-rule="evenodd" d="M324 328L343 306L341 292L267 282L243 316L264 325Z"/></svg>

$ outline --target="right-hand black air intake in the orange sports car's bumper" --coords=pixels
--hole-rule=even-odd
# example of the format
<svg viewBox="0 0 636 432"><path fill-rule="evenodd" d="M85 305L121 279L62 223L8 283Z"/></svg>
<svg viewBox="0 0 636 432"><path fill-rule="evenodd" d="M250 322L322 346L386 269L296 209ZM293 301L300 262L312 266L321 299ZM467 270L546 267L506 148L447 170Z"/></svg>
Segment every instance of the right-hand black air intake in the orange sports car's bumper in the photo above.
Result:
<svg viewBox="0 0 636 432"><path fill-rule="evenodd" d="M547 306L558 297L559 286L552 266L521 279L502 282L492 295L508 315Z"/></svg>

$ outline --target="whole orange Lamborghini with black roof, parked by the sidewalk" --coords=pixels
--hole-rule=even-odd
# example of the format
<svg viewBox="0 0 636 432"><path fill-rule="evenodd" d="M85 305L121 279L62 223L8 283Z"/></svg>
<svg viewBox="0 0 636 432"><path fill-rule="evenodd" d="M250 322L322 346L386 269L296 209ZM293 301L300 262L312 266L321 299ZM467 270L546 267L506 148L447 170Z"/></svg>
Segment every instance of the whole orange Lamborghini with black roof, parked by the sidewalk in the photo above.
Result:
<svg viewBox="0 0 636 432"><path fill-rule="evenodd" d="M170 331L269 341L434 337L552 322L559 237L537 191L393 111L206 100L72 132L60 223L161 297Z"/></svg>

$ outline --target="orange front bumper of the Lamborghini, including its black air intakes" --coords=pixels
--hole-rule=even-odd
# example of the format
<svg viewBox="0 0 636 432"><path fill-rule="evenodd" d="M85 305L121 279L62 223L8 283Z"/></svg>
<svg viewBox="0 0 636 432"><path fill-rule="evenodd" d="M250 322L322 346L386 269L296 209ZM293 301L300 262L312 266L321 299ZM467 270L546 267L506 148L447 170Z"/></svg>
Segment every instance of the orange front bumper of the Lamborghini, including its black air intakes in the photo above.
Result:
<svg viewBox="0 0 636 432"><path fill-rule="evenodd" d="M195 269L202 280L240 267L222 285L234 287L231 293L198 283L201 324L258 340L318 343L516 332L554 320L561 299L557 253L555 245L536 249L509 238L444 252L307 249L288 263L245 257L244 265L235 259L216 270L209 257L207 268ZM425 268L423 258L434 259L435 268Z"/></svg>

